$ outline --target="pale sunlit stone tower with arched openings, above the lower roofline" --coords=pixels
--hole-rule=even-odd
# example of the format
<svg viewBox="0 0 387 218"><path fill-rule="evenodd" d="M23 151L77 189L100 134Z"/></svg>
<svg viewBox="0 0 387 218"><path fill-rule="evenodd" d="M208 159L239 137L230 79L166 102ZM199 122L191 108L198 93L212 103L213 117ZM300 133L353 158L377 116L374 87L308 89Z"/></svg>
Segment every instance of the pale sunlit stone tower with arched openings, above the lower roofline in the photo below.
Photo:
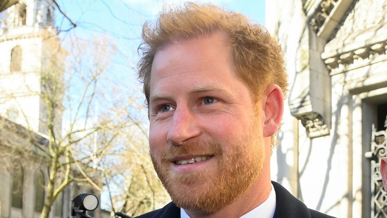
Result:
<svg viewBox="0 0 387 218"><path fill-rule="evenodd" d="M20 0L0 26L0 116L41 133L47 117L42 72L62 74L64 66L54 15L51 0Z"/></svg>

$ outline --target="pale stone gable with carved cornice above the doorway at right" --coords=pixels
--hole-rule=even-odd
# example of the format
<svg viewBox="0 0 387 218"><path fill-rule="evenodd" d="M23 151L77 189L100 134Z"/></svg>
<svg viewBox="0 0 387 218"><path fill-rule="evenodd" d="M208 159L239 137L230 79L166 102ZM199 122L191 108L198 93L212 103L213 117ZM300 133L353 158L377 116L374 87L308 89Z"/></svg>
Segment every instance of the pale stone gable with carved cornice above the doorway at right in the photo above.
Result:
<svg viewBox="0 0 387 218"><path fill-rule="evenodd" d="M387 59L387 3L383 2L351 3L321 54L331 75Z"/></svg>

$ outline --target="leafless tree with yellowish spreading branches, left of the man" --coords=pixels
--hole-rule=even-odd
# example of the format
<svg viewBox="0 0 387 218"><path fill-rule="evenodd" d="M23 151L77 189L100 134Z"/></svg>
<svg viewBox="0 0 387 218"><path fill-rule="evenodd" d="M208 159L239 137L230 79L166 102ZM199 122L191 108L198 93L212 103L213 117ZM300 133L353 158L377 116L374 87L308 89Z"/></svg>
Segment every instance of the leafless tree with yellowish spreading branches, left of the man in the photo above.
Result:
<svg viewBox="0 0 387 218"><path fill-rule="evenodd" d="M28 108L20 107L17 114L26 128L24 137L34 148L15 146L4 138L0 146L7 145L10 155L48 166L42 218L48 218L55 199L72 182L87 182L107 193L115 212L133 216L163 206L170 199L149 158L148 120L140 88L133 78L117 73L135 74L134 61L115 45L111 33L108 37L98 33L92 40L77 38L70 30L81 28L82 23L78 25L57 7L71 28L58 29L57 33L66 34L60 40L57 35L44 39L50 54L44 55L43 67L33 73L39 88L31 88L28 78L22 85L23 96L0 88L0 108L10 101L20 103L26 95L39 97L43 113L38 129L31 124ZM12 111L3 110L0 115L9 114Z"/></svg>

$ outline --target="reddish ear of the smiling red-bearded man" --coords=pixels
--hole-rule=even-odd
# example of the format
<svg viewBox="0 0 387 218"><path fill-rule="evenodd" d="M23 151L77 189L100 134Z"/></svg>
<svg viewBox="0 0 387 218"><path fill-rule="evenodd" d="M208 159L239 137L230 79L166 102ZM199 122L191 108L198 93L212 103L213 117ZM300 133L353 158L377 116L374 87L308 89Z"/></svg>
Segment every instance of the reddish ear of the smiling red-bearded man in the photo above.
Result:
<svg viewBox="0 0 387 218"><path fill-rule="evenodd" d="M261 106L265 116L263 126L264 137L270 137L276 133L281 125L284 111L284 94L282 89L276 84L269 85L261 98Z"/></svg>

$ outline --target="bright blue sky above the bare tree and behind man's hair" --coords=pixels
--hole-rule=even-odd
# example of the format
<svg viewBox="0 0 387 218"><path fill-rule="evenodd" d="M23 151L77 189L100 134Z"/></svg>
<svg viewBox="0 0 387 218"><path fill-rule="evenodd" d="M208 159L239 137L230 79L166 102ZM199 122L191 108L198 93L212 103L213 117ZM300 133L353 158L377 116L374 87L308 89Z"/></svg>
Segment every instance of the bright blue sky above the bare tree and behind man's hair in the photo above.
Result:
<svg viewBox="0 0 387 218"><path fill-rule="evenodd" d="M182 4L183 0L57 0L62 10L77 28L59 36L68 42L77 38L108 38L115 43L117 54L111 64L120 81L135 85L142 24L154 20L163 4ZM260 24L265 24L265 0L202 0L245 14ZM56 26L70 28L70 23L58 13ZM66 41L67 40L67 41ZM64 46L66 49L66 46ZM68 49L68 48L67 48ZM131 69L132 68L132 69ZM137 82L138 84L138 82Z"/></svg>

